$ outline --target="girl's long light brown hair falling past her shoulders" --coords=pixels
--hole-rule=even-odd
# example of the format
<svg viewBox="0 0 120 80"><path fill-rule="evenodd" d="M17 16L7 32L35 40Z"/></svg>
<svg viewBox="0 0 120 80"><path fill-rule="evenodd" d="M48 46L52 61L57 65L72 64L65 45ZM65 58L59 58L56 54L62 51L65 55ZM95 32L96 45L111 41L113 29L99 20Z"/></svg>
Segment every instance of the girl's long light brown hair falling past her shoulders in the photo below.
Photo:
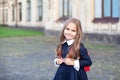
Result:
<svg viewBox="0 0 120 80"><path fill-rule="evenodd" d="M77 59L77 58L80 58L80 43L82 40L82 27L81 27L80 20L78 20L76 18L70 18L65 22L63 30L61 31L60 41L56 48L56 54L57 54L57 57L62 56L62 44L63 44L63 41L66 39L64 36L64 30L65 30L66 26L68 26L69 23L74 23L76 25L77 34L75 36L75 41L72 44L72 46L68 52L67 57Z"/></svg>

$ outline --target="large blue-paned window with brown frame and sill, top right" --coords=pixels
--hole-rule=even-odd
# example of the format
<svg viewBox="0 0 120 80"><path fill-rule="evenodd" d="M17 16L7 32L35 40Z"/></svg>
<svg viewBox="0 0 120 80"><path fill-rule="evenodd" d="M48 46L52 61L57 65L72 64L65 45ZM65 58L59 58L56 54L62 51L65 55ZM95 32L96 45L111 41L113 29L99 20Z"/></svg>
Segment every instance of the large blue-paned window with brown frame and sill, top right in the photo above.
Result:
<svg viewBox="0 0 120 80"><path fill-rule="evenodd" d="M118 0L94 0L93 22L118 22Z"/></svg>

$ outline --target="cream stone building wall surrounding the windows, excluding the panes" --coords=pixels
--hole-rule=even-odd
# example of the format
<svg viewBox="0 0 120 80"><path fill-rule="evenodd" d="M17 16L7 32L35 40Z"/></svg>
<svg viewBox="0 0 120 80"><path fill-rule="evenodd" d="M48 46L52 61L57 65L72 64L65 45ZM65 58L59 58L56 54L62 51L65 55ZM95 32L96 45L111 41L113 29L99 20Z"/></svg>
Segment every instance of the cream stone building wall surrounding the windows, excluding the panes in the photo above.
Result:
<svg viewBox="0 0 120 80"><path fill-rule="evenodd" d="M27 21L27 0L17 0L17 3L22 3L22 21L19 21L19 6L14 7L15 20L12 21L12 5L15 0L8 0L5 5L5 10L8 11L8 17L4 24L8 26L17 27L40 27L44 28L46 35L58 35L63 28L64 22L57 22L60 18L60 0L42 0L43 1L43 15L42 20L38 21L37 17L37 2L38 0L31 0L31 20ZM72 3L72 17L78 18L81 21L83 32L85 34L106 34L106 35L120 35L120 20L115 23L107 22L94 23L94 1L95 0L71 0ZM119 0L118 0L119 1ZM119 1L119 19L120 19L120 1ZM17 4L18 5L18 4ZM17 11L16 11L17 10ZM0 24L3 24L3 6L0 5ZM7 12L6 12L7 13ZM5 13L4 13L5 14ZM17 18L17 20L16 20Z"/></svg>

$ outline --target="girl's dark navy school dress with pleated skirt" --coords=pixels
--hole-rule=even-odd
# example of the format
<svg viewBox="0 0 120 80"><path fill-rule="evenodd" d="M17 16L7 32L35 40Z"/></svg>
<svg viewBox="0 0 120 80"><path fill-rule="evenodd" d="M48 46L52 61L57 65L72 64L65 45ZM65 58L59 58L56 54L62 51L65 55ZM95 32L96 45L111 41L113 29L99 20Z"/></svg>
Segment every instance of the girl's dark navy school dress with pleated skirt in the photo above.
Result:
<svg viewBox="0 0 120 80"><path fill-rule="evenodd" d="M68 46L66 42L62 45L63 58L66 57L69 47L70 46ZM79 71L77 71L74 66L69 66L65 63L62 63L60 64L53 80L88 80L87 74L84 70L84 66L90 66L92 62L89 55L87 54L87 49L82 43L80 44L80 57L81 58L79 59Z"/></svg>

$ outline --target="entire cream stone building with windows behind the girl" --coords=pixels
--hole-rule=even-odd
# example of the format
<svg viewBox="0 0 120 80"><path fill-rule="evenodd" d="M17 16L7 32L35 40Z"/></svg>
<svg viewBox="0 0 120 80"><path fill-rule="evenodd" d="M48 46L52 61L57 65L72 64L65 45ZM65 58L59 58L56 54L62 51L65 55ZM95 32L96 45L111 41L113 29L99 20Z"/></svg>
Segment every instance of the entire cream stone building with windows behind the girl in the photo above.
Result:
<svg viewBox="0 0 120 80"><path fill-rule="evenodd" d="M56 36L71 17L80 19L84 37L120 44L120 0L0 0L1 25Z"/></svg>

